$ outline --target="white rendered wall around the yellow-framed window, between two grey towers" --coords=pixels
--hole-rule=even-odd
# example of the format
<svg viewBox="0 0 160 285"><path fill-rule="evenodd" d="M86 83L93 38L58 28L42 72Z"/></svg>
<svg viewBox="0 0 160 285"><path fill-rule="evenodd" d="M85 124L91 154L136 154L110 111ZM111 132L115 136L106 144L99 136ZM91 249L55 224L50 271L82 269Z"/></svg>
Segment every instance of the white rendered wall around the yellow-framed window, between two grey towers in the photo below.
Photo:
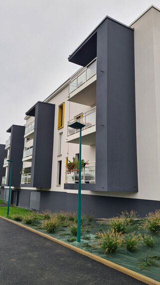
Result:
<svg viewBox="0 0 160 285"><path fill-rule="evenodd" d="M74 118L81 112L85 112L92 107L78 104L74 102L67 101L68 96L68 86L61 90L56 96L54 96L48 103L55 104L55 122L54 122L54 141L53 141L53 164L52 164L52 182L51 190L52 191L63 191L65 183L65 163L66 157L69 160L72 160L73 156L76 153L79 153L79 144L68 143L65 141L67 137L67 122L69 119ZM58 105L65 102L64 106L64 127L57 129L57 120L58 120ZM58 155L59 150L59 133L63 132L62 137L62 155ZM82 145L82 159L95 161L95 145ZM62 160L62 175L61 175L61 185L57 185L57 163L58 160Z"/></svg>

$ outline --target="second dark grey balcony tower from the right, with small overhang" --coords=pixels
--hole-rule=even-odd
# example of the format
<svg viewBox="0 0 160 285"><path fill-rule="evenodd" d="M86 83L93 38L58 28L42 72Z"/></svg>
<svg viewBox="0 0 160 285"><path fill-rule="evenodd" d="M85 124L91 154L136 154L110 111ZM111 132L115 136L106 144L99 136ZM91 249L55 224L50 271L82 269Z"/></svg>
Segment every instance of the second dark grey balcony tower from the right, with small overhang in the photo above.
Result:
<svg viewBox="0 0 160 285"><path fill-rule="evenodd" d="M26 115L35 116L29 187L51 187L54 112L54 104L40 101L26 112Z"/></svg>

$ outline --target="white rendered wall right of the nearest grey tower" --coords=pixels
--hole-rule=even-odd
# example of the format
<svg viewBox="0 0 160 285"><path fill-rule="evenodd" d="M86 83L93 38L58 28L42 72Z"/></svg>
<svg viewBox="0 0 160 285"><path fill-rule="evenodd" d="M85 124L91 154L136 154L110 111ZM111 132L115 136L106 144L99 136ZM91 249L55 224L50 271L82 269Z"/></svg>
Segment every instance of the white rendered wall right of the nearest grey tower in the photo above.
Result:
<svg viewBox="0 0 160 285"><path fill-rule="evenodd" d="M150 8L131 27L135 29L139 192L82 193L160 200L160 11Z"/></svg>

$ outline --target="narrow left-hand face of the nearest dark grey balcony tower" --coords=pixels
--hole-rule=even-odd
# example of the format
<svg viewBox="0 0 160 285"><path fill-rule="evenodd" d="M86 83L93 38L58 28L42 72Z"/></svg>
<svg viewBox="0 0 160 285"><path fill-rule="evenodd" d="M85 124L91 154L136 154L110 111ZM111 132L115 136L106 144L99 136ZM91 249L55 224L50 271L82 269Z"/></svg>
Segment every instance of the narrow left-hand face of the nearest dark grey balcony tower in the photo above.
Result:
<svg viewBox="0 0 160 285"><path fill-rule="evenodd" d="M97 30L96 190L107 190L107 21Z"/></svg>

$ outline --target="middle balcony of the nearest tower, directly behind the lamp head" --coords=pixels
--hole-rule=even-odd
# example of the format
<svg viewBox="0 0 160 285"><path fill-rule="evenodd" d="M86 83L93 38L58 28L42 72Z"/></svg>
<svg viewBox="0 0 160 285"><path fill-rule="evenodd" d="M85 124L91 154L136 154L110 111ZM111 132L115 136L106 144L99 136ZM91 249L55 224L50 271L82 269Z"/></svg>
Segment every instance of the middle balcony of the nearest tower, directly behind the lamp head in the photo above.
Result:
<svg viewBox="0 0 160 285"><path fill-rule="evenodd" d="M84 123L82 128L82 144L92 145L96 143L96 107L79 114L68 121L68 124L79 121ZM79 129L68 126L66 142L79 143Z"/></svg>

